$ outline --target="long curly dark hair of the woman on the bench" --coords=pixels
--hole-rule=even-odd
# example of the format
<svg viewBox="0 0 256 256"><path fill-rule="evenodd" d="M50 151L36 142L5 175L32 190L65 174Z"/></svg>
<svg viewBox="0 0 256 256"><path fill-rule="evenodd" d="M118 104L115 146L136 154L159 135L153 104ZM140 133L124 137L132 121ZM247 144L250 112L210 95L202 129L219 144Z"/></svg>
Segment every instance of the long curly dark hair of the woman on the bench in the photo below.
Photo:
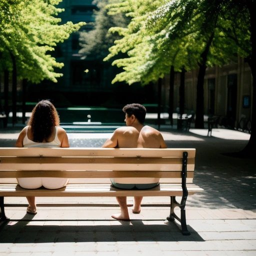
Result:
<svg viewBox="0 0 256 256"><path fill-rule="evenodd" d="M47 140L52 127L59 125L59 117L54 105L49 100L39 101L32 110L28 125L31 125L33 141Z"/></svg>

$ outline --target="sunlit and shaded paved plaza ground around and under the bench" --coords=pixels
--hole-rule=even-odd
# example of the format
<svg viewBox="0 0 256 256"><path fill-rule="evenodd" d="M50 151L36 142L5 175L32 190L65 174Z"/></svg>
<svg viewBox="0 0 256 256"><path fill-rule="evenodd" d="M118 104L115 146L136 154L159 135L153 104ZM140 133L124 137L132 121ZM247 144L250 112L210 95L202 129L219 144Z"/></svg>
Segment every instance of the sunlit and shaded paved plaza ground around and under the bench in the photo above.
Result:
<svg viewBox="0 0 256 256"><path fill-rule="evenodd" d="M0 132L0 146L14 146L18 130ZM70 146L101 146L110 134L68 138ZM112 197L38 197L35 216L26 214L25 198L6 197L0 255L256 255L256 161L226 154L241 150L249 134L166 127L162 134L168 147L196 148L194 183L204 191L187 199L191 235L165 220L168 197L144 197L140 214L129 207L130 222L111 218L119 210Z"/></svg>

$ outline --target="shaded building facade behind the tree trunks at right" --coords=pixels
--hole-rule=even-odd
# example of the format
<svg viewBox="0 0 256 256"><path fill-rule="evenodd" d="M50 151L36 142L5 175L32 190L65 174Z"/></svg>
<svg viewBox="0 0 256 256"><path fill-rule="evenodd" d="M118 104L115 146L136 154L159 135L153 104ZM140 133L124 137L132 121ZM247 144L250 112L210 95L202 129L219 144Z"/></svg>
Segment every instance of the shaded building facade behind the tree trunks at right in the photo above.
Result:
<svg viewBox="0 0 256 256"><path fill-rule="evenodd" d="M193 70L185 73L185 112L195 112L196 110L197 72L198 70ZM179 106L179 82L180 74L176 73L174 112ZM164 78L163 84L163 100L164 104L168 104L168 76ZM226 117L226 119L231 120L233 127L239 127L241 120L244 122L251 119L252 75L248 63L244 62L243 58L238 57L237 62L222 67L207 68L203 89L205 115Z"/></svg>

